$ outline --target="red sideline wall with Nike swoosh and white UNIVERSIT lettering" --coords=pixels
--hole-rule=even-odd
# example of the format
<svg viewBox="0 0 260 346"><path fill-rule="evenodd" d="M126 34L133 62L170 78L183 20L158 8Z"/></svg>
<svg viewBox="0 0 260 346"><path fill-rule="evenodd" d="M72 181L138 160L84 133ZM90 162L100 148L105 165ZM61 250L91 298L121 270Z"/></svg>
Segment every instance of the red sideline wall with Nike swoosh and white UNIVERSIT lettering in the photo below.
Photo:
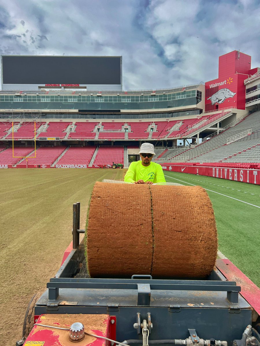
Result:
<svg viewBox="0 0 260 346"><path fill-rule="evenodd" d="M207 175L215 178L260 185L260 170L162 164L164 171Z"/></svg>

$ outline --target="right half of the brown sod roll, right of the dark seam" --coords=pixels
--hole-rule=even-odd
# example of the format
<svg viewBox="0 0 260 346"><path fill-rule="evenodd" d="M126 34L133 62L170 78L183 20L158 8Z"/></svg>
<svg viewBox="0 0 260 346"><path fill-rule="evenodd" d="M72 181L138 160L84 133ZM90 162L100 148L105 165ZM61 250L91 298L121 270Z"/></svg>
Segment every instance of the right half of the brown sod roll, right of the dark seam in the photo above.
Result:
<svg viewBox="0 0 260 346"><path fill-rule="evenodd" d="M153 276L205 277L217 258L217 229L200 186L150 186L153 204Z"/></svg>

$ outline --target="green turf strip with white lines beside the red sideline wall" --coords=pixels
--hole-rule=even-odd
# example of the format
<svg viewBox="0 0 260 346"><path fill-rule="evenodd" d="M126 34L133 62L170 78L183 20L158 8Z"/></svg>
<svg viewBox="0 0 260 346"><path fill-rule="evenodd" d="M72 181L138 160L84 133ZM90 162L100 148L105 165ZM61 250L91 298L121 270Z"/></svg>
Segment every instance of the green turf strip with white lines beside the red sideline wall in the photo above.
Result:
<svg viewBox="0 0 260 346"><path fill-rule="evenodd" d="M164 172L167 182L200 185L213 204L219 251L260 287L260 186L187 173Z"/></svg>

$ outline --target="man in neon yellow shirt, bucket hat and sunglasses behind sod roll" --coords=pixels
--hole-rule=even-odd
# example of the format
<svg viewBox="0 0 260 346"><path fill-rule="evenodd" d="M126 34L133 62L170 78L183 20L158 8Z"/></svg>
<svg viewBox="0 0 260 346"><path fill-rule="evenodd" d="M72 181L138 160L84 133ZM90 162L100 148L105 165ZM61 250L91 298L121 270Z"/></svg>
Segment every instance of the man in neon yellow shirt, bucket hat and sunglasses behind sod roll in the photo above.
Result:
<svg viewBox="0 0 260 346"><path fill-rule="evenodd" d="M124 181L133 184L165 183L162 166L151 162L155 154L153 144L143 143L139 154L141 160L130 164Z"/></svg>

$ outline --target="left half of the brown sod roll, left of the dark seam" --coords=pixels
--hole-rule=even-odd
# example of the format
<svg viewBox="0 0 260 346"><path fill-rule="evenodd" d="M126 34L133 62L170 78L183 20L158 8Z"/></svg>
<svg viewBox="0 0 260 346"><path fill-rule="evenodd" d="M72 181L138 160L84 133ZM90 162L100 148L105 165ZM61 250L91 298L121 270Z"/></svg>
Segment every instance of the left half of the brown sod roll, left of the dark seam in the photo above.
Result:
<svg viewBox="0 0 260 346"><path fill-rule="evenodd" d="M150 274L152 252L149 186L96 182L87 226L90 276Z"/></svg>

